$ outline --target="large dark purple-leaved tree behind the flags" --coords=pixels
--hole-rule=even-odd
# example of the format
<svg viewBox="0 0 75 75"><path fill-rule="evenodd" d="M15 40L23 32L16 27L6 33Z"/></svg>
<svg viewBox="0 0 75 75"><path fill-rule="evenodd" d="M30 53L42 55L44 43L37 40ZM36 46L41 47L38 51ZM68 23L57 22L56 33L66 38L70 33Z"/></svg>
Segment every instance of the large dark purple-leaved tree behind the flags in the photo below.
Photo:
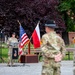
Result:
<svg viewBox="0 0 75 75"><path fill-rule="evenodd" d="M0 0L0 28L5 32L19 33L19 20L26 33L31 36L38 20L43 34L46 20L53 19L60 30L65 29L65 23L57 7L59 0Z"/></svg>

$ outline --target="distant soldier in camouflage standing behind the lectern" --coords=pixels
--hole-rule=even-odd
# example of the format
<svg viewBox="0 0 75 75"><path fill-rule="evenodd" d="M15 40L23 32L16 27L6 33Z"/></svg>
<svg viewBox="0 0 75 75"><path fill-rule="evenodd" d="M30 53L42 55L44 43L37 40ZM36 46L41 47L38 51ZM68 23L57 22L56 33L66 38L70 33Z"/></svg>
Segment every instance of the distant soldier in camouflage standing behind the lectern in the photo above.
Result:
<svg viewBox="0 0 75 75"><path fill-rule="evenodd" d="M8 51L8 66L13 65L13 60L12 60L12 48L17 47L18 48L18 40L15 38L15 33L12 34L12 37L10 37L7 41L9 51Z"/></svg>

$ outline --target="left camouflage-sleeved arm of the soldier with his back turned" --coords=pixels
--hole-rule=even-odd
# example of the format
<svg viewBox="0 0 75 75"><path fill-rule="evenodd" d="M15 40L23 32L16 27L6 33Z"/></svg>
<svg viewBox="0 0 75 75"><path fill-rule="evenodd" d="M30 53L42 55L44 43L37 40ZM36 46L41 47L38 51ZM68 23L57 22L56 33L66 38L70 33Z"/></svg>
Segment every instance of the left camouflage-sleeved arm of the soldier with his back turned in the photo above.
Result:
<svg viewBox="0 0 75 75"><path fill-rule="evenodd" d="M48 43L48 38L46 36L43 36L42 45L41 45L41 50L43 52L43 55L48 58L54 58L55 55L53 55L52 51L48 49L47 43Z"/></svg>

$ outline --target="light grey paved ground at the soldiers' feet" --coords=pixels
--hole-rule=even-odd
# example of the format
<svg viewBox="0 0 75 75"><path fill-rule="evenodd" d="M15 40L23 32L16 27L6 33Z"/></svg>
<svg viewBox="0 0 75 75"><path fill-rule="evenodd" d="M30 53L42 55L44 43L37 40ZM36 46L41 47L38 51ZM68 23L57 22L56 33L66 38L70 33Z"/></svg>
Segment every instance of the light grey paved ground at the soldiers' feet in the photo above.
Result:
<svg viewBox="0 0 75 75"><path fill-rule="evenodd" d="M73 62L62 61L61 62L61 75L73 75ZM32 64L17 64L14 67L8 67L7 64L0 64L0 75L41 75L42 63Z"/></svg>

